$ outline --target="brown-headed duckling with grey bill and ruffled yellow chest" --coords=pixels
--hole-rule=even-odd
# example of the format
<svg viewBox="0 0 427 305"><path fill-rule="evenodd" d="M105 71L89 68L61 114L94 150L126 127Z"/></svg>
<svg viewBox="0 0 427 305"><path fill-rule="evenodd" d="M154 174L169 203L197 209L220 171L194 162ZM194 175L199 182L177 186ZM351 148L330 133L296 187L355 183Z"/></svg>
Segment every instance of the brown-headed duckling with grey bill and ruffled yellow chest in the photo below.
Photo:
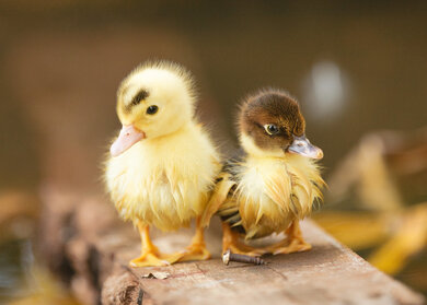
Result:
<svg viewBox="0 0 427 305"><path fill-rule="evenodd" d="M221 216L223 251L258 256L310 249L299 221L322 199L325 183L316 161L323 152L305 138L299 104L282 90L262 90L245 98L238 126L243 152L226 162L203 222L214 213ZM281 232L286 238L267 247L240 239Z"/></svg>

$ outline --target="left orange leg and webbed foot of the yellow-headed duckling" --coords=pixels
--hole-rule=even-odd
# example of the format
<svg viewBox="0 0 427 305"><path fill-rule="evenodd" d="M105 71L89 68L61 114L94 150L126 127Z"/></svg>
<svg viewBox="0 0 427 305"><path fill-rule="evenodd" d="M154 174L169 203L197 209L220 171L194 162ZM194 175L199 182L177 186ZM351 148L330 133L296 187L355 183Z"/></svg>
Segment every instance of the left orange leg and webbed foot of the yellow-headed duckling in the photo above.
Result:
<svg viewBox="0 0 427 305"><path fill-rule="evenodd" d="M141 236L141 256L130 260L131 267L168 266L177 261L182 254L164 255L152 244L149 226L138 222L138 231Z"/></svg>

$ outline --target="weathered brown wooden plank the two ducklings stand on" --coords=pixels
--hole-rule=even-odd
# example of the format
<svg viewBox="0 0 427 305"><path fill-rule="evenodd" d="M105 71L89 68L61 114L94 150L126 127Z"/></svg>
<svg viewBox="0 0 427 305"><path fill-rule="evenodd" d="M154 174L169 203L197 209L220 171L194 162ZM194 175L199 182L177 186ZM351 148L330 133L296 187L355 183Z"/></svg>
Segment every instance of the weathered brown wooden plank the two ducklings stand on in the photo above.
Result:
<svg viewBox="0 0 427 305"><path fill-rule="evenodd" d="M127 261L139 254L138 235L107 200L50 192L44 201L42 249L85 304L424 304L312 221L302 223L312 250L266 257L266 266L223 266L214 223L207 233L211 260L131 269ZM191 233L157 233L154 242L171 251L183 248Z"/></svg>

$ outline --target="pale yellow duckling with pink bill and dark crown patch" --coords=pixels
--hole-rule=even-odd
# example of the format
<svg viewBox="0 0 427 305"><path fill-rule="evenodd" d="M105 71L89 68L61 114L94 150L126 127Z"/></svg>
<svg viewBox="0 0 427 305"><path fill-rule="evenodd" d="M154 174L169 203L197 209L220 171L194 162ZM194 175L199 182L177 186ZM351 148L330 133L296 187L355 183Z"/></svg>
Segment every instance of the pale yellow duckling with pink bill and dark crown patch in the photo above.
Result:
<svg viewBox="0 0 427 305"><path fill-rule="evenodd" d="M138 227L142 249L132 267L165 266L210 257L200 215L220 171L219 154L197 122L194 81L168 61L136 68L119 85L116 112L123 128L111 146L105 181L125 221ZM186 250L165 255L149 228L175 231L196 219Z"/></svg>

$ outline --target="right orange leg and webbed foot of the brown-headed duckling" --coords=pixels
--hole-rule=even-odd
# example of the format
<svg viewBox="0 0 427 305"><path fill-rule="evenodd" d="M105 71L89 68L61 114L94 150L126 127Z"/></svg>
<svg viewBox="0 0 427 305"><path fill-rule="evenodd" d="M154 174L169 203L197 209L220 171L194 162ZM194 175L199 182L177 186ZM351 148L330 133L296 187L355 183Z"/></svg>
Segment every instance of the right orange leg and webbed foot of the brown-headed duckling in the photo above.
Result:
<svg viewBox="0 0 427 305"><path fill-rule="evenodd" d="M300 222L298 220L295 220L285 233L287 237L284 241L267 247L266 250L268 253L277 255L301 253L311 249L311 245L305 243L302 237Z"/></svg>

